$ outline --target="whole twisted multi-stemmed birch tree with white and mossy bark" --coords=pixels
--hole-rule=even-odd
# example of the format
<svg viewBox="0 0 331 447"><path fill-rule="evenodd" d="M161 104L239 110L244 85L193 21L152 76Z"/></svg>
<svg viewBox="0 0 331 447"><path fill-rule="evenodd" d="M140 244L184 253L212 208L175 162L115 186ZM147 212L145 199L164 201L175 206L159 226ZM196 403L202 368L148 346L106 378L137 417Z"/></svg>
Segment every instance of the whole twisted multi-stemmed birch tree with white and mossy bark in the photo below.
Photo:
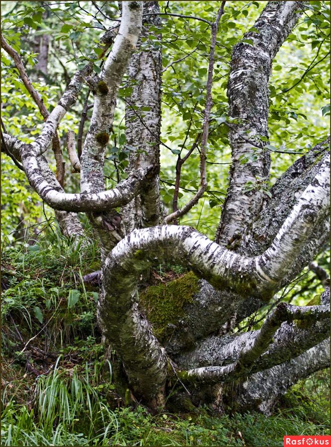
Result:
<svg viewBox="0 0 331 447"><path fill-rule="evenodd" d="M86 7L92 8L92 3ZM278 51L289 36L293 39L306 16L312 26L323 29L326 15L323 8L314 9L316 2L264 2L253 26L247 24L237 43L229 49L225 46L231 59L225 113L220 111L213 85L218 80L215 67L222 48L219 35L229 22L226 11L231 2L209 3L208 19L176 8L172 12L168 4L160 8L157 1L123 1L117 18L99 15L105 30L93 51L80 61L52 110L46 109L30 80L12 36L4 33L2 51L16 68L44 124L27 143L10 135L6 130L10 118L4 120L1 150L24 171L40 199L56 210L68 237L79 240L83 235L77 213L86 213L98 235L102 254L98 324L137 401L154 411L163 409L173 399L169 394L175 387L177 396L195 405L211 402L268 413L288 387L330 364L330 282L326 272L312 264L328 241L330 140L324 135L275 178L271 154L286 153L286 148L270 144L275 136L268 123L275 96L270 75ZM48 14L52 15L51 2ZM194 111L180 149L164 143L161 104L169 88L174 98L176 93L184 95L185 88L178 82L174 90L162 75L194 58L201 47L162 65L162 57L168 57L164 17L171 18L175 26L176 20L199 22L205 30L199 43L205 48L201 67L205 83L200 92L193 89L190 93ZM302 79L304 76L297 83ZM73 172L79 172L80 188L66 192L58 130L86 86L93 99L83 144L80 130L77 142L73 129L66 136L67 159ZM183 111L184 103L179 100L177 113ZM123 107L117 109L119 104ZM84 128L87 109L86 99L79 129ZM117 184L107 189L104 165L116 113L125 118L124 148L129 155L123 175L114 145L111 157ZM200 118L195 120L194 113ZM208 158L210 142L218 131L220 145L225 140L231 148L231 165L212 240L181 223L201 198L210 197L208 171L213 162ZM160 145L177 156L172 210L162 205ZM45 157L50 146L57 174ZM183 203L179 200L183 166L197 155L199 184ZM141 299L140 280L148 282L155 262L181 265L197 281L191 299L177 320L162 328L162 336ZM308 265L323 277L321 297L306 306L275 301ZM259 328L238 330L265 307L267 316Z"/></svg>

